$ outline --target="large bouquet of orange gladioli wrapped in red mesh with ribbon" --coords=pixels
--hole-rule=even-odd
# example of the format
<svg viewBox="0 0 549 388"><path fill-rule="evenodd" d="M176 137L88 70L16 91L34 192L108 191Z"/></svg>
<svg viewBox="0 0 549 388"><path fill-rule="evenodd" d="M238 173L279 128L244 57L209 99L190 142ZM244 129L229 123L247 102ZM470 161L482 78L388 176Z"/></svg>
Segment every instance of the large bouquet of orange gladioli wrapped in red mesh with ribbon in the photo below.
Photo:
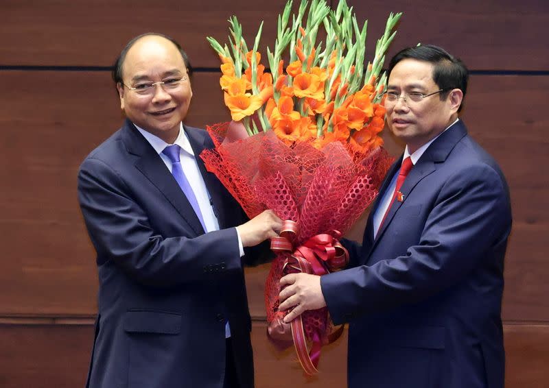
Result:
<svg viewBox="0 0 549 388"><path fill-rule="evenodd" d="M277 256L266 280L268 335L279 344L293 342L305 372L315 374L321 346L341 330L326 308L284 324L279 280L347 264L338 239L371 204L392 162L379 137L386 88L380 73L401 14L390 14L373 61L364 66L366 23L360 27L344 0L336 10L325 0L303 0L290 23L291 13L290 0L278 19L274 50L267 49L270 72L257 51L263 23L251 50L235 16L229 45L207 38L222 62L220 86L233 121L207 128L215 149L201 157L248 217L271 208L286 220L271 244ZM322 27L325 43L317 43Z"/></svg>

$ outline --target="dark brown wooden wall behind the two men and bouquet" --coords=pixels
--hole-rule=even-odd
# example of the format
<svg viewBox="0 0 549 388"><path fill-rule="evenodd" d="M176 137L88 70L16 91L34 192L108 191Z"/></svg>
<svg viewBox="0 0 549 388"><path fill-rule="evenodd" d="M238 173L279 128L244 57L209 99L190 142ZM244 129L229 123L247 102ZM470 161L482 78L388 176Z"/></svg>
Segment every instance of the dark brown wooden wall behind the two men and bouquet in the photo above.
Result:
<svg viewBox="0 0 549 388"><path fill-rule="evenodd" d="M336 1L332 1L336 3ZM403 11L389 56L434 43L471 69L463 114L474 138L500 162L511 186L513 232L506 255L507 387L547 387L549 231L547 135L549 11L545 1L349 1L369 19L368 52L389 12ZM218 58L237 14L251 42L264 20L274 43L284 1L2 0L0 3L0 386L82 387L93 339L97 276L76 200L84 156L121 123L109 66L132 36L163 32L196 68L190 125L226 121ZM413 5L412 5L413 4ZM367 53L368 56L368 53ZM371 58L371 56L368 56ZM402 146L386 136L393 155ZM360 237L364 225L349 236ZM246 270L254 317L257 387L344 387L346 338L330 345L320 376L304 378L292 351L264 335L268 266Z"/></svg>

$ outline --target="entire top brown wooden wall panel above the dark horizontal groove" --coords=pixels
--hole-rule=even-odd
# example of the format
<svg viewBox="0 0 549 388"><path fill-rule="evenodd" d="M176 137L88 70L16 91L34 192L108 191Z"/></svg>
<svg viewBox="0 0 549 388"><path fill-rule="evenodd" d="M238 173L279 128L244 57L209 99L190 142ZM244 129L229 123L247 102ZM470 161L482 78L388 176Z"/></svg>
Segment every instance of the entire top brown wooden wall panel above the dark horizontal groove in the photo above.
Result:
<svg viewBox="0 0 549 388"><path fill-rule="evenodd" d="M299 3L299 1L294 1ZM336 3L336 1L332 1ZM435 43L455 52L471 69L546 70L549 10L542 0L359 1L349 0L358 20L369 19L369 53L384 29L389 12L404 12L388 58L418 42ZM3 0L0 14L0 65L110 66L121 47L143 32L174 36L195 66L218 67L205 37L226 41L229 16L237 14L251 44L259 22L262 42L274 45L276 16L284 0L181 3L163 0ZM266 51L263 51L266 53ZM371 58L371 57L368 57Z"/></svg>

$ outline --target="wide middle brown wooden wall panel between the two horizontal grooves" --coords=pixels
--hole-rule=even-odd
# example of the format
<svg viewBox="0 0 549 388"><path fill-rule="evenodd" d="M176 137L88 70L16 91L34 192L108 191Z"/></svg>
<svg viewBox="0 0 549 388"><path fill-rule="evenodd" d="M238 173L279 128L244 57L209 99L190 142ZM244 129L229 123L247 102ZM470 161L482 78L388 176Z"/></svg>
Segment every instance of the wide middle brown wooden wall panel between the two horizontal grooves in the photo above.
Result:
<svg viewBox="0 0 549 388"><path fill-rule="evenodd" d="M0 314L93 314L95 260L75 178L84 156L121 123L108 73L0 71L0 83L10 96L0 106L0 179L9 182L0 191ZM193 87L189 125L229 119L218 74L197 73ZM539 179L548 176L547 90L549 77L474 75L464 112L471 134L500 162L511 186L514 226L504 301L504 318L511 321L549 321L549 302L542 298L549 293L549 195ZM401 145L385 137L397 155ZM360 240L364 222L349 237ZM255 317L265 314L267 271L268 265L247 271Z"/></svg>

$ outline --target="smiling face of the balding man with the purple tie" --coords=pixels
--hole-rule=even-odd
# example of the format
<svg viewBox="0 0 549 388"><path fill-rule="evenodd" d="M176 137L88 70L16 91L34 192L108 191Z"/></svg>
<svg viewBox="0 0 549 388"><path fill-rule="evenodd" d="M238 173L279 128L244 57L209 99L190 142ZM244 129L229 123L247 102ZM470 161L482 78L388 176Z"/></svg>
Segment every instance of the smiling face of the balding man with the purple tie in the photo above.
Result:
<svg viewBox="0 0 549 388"><path fill-rule="evenodd" d="M165 90L159 84L153 86L154 90L149 95L140 95L135 90L117 85L120 106L126 117L166 143L175 141L192 97L181 54L170 40L161 36L145 36L128 50L122 64L122 79L130 87L180 77L187 77L187 80L177 88Z"/></svg>

